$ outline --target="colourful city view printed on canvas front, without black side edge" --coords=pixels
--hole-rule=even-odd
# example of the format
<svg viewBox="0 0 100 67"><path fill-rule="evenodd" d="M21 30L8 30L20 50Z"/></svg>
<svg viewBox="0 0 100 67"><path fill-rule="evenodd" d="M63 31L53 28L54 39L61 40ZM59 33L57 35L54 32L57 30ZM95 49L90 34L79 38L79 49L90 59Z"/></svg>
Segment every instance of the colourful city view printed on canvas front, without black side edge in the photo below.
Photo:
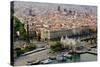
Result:
<svg viewBox="0 0 100 67"><path fill-rule="evenodd" d="M97 61L97 6L13 5L14 66Z"/></svg>

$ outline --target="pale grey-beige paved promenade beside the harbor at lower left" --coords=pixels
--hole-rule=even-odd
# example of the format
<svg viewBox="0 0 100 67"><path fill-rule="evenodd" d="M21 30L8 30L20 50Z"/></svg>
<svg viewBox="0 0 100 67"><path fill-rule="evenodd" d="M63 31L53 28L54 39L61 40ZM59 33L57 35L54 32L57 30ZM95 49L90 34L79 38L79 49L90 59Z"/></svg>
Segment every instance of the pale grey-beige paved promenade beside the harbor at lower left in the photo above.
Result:
<svg viewBox="0 0 100 67"><path fill-rule="evenodd" d="M21 65L27 65L29 61L37 61L37 60L43 60L48 58L48 52L49 49L42 50L36 53L27 54L25 56L21 56L17 59L15 59L14 65L15 66L21 66Z"/></svg>

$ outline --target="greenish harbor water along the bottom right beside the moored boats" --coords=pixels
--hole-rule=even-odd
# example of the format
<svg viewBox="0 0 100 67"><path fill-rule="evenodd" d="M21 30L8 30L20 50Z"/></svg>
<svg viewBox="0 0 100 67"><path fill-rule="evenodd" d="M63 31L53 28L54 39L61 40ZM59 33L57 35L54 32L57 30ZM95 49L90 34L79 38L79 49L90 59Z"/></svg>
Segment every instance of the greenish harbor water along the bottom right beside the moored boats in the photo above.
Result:
<svg viewBox="0 0 100 67"><path fill-rule="evenodd" d="M84 53L84 54L76 54L71 58L66 58L64 61L52 60L52 62L48 64L56 64L56 63L73 63L73 62L89 62L89 61L97 61L97 55Z"/></svg>

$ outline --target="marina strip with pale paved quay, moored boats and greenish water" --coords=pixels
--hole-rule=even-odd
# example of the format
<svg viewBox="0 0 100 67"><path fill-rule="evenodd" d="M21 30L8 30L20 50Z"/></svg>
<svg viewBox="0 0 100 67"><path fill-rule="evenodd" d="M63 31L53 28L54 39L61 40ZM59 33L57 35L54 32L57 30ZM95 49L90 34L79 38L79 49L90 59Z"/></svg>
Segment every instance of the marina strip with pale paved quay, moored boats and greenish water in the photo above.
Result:
<svg viewBox="0 0 100 67"><path fill-rule="evenodd" d="M48 56L48 55L49 55L48 49L36 52L36 55L35 55L35 53L27 54L27 55L22 56L19 59L17 59L15 64L18 64L18 61L21 61L20 62L21 65L23 65L23 64L37 65L37 64L84 62L84 61L88 62L88 61L96 61L97 60L96 48L92 48L91 51L83 51L83 52L77 51L75 54L63 52L58 55L56 54L54 56ZM40 56L41 56L41 58L40 58ZM23 58L23 60L22 60L22 58ZM37 58L37 60L36 60L36 58ZM20 65L20 64L18 64L18 65Z"/></svg>

